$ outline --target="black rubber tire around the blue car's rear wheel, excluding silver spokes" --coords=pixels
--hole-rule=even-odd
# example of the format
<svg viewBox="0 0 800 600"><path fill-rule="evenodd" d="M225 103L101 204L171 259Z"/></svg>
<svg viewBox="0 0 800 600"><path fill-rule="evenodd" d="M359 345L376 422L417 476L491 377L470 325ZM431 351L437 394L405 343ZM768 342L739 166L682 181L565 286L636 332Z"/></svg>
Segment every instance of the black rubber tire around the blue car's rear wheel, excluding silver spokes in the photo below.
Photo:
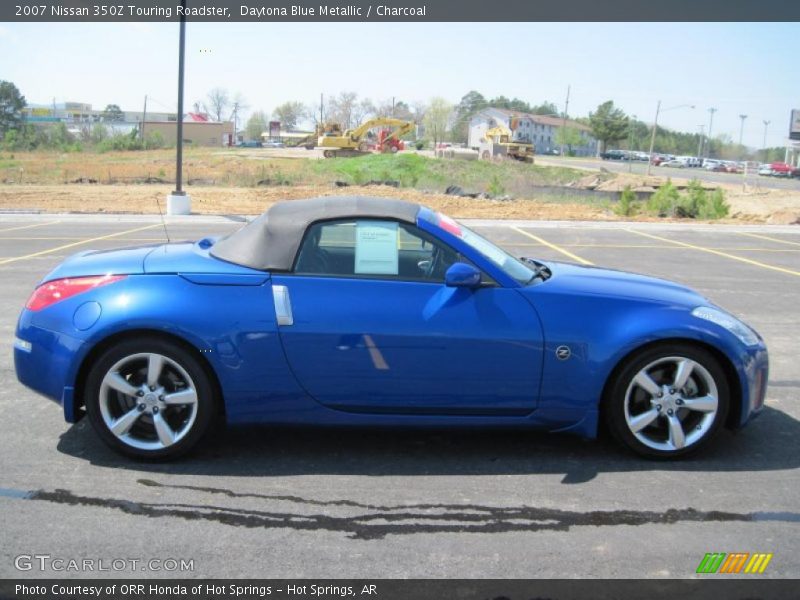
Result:
<svg viewBox="0 0 800 600"><path fill-rule="evenodd" d="M104 386L104 379L114 369L114 373L121 375L125 371L123 384L127 382L136 389L143 385L146 386L147 382L143 381L143 378L147 377L148 367L147 359L142 358L143 355L162 357L164 359L163 367L159 369L161 375L157 391L148 393L146 398L148 402L153 402L154 408L148 407L145 411L139 410L142 416L135 417L136 424L130 427L130 433L123 435L129 440L126 442L110 429L108 421L113 421L113 417L117 416L111 414L111 411L118 410L119 416L123 416L127 412L132 412L131 405L136 410L144 406L145 398L137 398L117 391L117 389L111 389L108 385ZM141 372L142 369L139 366L142 361L146 363L145 373ZM118 365L122 365L122 367L117 369ZM181 387L181 380L186 379L187 376L189 378L188 385ZM183 394L188 392L191 396L191 391L194 391L196 401L180 405L165 405L158 401L158 390L163 390L164 395L160 396L162 400L165 397L169 399L170 394L178 392ZM208 432L209 426L218 412L215 386L212 385L199 359L181 345L157 337L125 340L105 350L89 370L84 388L84 401L89 422L106 445L125 456L146 460L167 460L185 454ZM176 434L176 441L160 448L131 445L153 446L155 441L150 438L155 436L158 440L161 437L156 431L158 428L155 427L157 415L153 414L159 412L158 406L161 407L160 419L164 422L171 420L173 423L183 424L184 427L180 432L170 429L172 433ZM193 414L193 416L191 418L185 416L189 414ZM148 427L152 429L152 432L148 431ZM137 431L138 433L136 433ZM178 433L180 433L179 436ZM163 442L158 443L163 445Z"/></svg>

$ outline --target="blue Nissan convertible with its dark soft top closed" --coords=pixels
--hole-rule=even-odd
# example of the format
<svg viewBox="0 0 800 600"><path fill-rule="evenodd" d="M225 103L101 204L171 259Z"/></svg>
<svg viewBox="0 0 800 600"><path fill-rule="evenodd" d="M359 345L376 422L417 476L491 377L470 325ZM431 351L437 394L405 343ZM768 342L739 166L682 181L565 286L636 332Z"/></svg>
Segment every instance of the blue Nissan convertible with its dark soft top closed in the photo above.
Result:
<svg viewBox="0 0 800 600"><path fill-rule="evenodd" d="M686 456L758 413L767 350L668 281L517 259L407 202L278 203L220 239L75 255L19 318L25 385L112 448L212 422L605 427Z"/></svg>

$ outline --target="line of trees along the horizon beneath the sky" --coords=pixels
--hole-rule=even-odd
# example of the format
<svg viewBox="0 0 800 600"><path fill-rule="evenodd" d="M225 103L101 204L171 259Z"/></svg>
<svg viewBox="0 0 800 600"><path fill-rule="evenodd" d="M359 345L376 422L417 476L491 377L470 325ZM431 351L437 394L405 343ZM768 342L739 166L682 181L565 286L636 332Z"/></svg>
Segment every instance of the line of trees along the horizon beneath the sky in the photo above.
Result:
<svg viewBox="0 0 800 600"><path fill-rule="evenodd" d="M144 139L141 139L137 131L129 134L115 133L113 123L124 119L124 113L116 104L109 104L103 110L103 122L83 126L78 135L68 131L64 123L48 128L38 128L26 123L22 113L25 105L25 97L12 82L0 81L0 140L7 150L80 150L84 145L101 151L135 150L161 147L164 144L158 132L147 134ZM465 143L470 121L489 107L534 115L566 116L550 101L531 104L517 97L501 95L487 98L476 90L464 94L457 104L442 97L433 97L424 102L397 98L373 101L360 97L356 92L344 91L323 95L320 102L287 100L271 112L256 109L246 120L243 117L250 107L241 93L234 94L225 88L216 87L209 90L204 98L193 103L194 112L208 115L215 121L233 121L237 131L243 131L249 139L261 139L262 134L268 131L271 120L280 122L283 131L294 131L301 128L313 130L322 123L338 123L342 129L351 129L369 118L394 117L420 125L424 131L423 141L434 145L443 141ZM572 120L591 129L593 137L600 142L601 151L612 146L623 150L649 150L652 126L627 115L612 100L601 103L588 116ZM243 123L243 128L240 128L240 123ZM581 143L580 134L574 127L560 127L555 143L571 149ZM727 134L718 134L709 140L699 133L663 127L657 128L654 151L688 156L703 154L730 160L747 158L765 162L782 160L784 156L784 149L781 147L752 150L735 144Z"/></svg>

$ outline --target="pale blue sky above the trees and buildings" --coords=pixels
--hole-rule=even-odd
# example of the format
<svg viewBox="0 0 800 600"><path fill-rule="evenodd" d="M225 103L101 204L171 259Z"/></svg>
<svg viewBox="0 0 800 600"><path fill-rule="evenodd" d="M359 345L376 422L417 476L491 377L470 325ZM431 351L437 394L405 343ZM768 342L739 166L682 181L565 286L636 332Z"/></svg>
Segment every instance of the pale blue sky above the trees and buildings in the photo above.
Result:
<svg viewBox="0 0 800 600"><path fill-rule="evenodd" d="M0 78L30 102L55 97L139 109L174 110L177 24L0 23ZM383 100L458 102L485 96L549 100L571 116L613 99L652 122L738 140L782 145L789 112L800 108L798 23L189 23L186 100L215 86L241 92L251 110L285 100L318 102L352 90Z"/></svg>

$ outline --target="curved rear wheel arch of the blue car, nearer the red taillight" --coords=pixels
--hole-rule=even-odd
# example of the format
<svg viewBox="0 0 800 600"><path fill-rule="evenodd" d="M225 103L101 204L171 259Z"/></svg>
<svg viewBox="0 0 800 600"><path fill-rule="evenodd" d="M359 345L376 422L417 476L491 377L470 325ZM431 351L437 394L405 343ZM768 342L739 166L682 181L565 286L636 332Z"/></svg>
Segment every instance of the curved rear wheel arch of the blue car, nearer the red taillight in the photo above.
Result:
<svg viewBox="0 0 800 600"><path fill-rule="evenodd" d="M89 352L86 353L86 356L84 356L83 360L81 361L81 364L78 367L75 376L73 411L76 414L78 414L79 412L83 412L85 410L84 391L86 388L86 380L89 375L89 371L92 368L92 365L94 364L94 361L96 361L97 358L103 352L105 352L108 348L110 348L114 344L131 339L141 339L143 337L157 338L166 342L170 342L180 346L183 350L189 352L197 360L197 363L200 365L203 371L205 371L206 375L208 375L208 379L211 382L212 387L214 388L214 396L217 403L217 415L222 417L223 419L226 417L225 397L222 392L222 385L220 384L217 372L211 366L211 363L208 362L208 359L205 356L203 356L203 354L185 338L182 338L181 336L171 332L159 331L157 329L147 329L147 328L128 329L125 331L118 331L116 333L112 333L111 335L104 337L103 339L95 343L94 346L92 346L92 348L89 350Z"/></svg>

